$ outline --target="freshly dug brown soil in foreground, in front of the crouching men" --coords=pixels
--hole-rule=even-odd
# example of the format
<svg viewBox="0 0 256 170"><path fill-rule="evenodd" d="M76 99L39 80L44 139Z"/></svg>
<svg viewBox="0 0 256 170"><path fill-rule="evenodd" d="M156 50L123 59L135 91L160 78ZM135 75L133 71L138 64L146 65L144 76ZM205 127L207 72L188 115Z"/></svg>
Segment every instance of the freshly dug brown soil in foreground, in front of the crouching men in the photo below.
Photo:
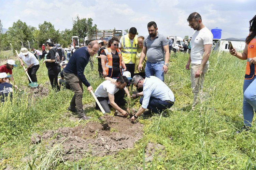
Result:
<svg viewBox="0 0 256 170"><path fill-rule="evenodd" d="M119 150L133 148L136 141L142 138L143 124L132 123L129 119L120 116L105 115L101 117L103 124L88 122L86 125L75 128L60 128L56 131L47 131L42 135L49 141L49 147L62 143L65 150L65 160L78 160L85 153L93 156L116 154ZM81 155L81 156L80 156Z"/></svg>

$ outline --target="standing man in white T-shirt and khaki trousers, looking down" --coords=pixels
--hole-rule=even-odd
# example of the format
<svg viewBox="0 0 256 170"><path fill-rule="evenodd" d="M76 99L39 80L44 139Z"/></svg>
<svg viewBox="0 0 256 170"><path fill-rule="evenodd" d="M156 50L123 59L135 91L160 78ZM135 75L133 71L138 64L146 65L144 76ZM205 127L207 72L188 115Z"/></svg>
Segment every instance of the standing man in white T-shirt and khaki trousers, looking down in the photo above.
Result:
<svg viewBox="0 0 256 170"><path fill-rule="evenodd" d="M202 88L204 82L204 75L209 67L209 56L212 50L213 35L211 31L202 23L202 18L197 12L191 13L187 18L189 27L193 28L195 32L191 38L191 53L186 65L186 69L190 69L191 88L194 94L194 101L192 110L195 109L199 97L202 95Z"/></svg>

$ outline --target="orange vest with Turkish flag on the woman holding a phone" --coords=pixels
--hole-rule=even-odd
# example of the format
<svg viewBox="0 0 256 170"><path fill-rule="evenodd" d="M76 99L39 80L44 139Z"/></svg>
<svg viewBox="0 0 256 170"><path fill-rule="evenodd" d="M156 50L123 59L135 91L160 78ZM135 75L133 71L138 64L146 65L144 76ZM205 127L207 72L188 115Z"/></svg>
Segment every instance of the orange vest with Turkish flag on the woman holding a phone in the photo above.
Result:
<svg viewBox="0 0 256 170"><path fill-rule="evenodd" d="M254 37L247 45L247 51L247 63L244 79L249 80L252 79L256 74L256 65L250 65L252 58L256 57L256 37Z"/></svg>

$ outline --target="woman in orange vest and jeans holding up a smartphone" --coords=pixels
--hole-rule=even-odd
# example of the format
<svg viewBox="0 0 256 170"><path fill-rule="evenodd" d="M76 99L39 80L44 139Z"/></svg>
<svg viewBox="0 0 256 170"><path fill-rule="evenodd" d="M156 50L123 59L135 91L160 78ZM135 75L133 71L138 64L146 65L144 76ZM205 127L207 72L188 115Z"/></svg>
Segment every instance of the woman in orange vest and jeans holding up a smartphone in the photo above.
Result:
<svg viewBox="0 0 256 170"><path fill-rule="evenodd" d="M237 52L235 48L229 48L231 55L234 55L241 60L247 60L243 85L244 126L240 131L237 131L237 133L240 133L243 130L248 131L250 129L252 126L251 123L254 110L256 109L256 15L249 21L249 23L250 34L245 39L246 45L244 51L241 53Z"/></svg>

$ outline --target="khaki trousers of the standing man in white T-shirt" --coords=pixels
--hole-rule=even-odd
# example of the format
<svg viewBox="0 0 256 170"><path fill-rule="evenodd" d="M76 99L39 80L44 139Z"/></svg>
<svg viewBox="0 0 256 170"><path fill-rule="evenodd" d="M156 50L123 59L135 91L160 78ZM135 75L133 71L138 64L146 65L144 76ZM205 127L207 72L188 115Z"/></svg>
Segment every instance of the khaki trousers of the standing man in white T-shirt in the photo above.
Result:
<svg viewBox="0 0 256 170"><path fill-rule="evenodd" d="M202 70L202 74L199 78L195 78L196 71L200 68L200 64L191 64L190 69L190 77L191 77L191 88L194 94L194 100L192 103L192 110L195 109L198 101L202 99L203 93L203 82L204 82L204 75L207 72L209 64L206 64Z"/></svg>

